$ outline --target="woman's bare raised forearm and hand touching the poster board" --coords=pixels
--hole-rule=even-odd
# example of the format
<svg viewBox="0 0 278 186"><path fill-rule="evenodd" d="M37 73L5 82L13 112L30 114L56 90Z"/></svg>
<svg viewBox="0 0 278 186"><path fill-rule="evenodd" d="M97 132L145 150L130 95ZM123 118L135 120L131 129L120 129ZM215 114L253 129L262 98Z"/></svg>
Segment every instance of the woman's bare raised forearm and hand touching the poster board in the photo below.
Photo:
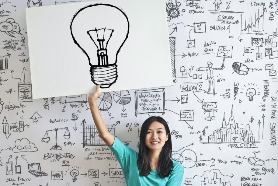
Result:
<svg viewBox="0 0 278 186"><path fill-rule="evenodd" d="M94 119L96 128L99 132L99 137L101 139L103 139L103 141L106 143L106 145L112 146L114 143L114 136L108 132L107 127L99 113L98 105L96 103L96 100L101 95L101 93L99 92L99 87L100 87L100 85L98 85L96 87L96 91L94 93L89 94L88 102L89 102L90 110L91 110L92 117Z"/></svg>

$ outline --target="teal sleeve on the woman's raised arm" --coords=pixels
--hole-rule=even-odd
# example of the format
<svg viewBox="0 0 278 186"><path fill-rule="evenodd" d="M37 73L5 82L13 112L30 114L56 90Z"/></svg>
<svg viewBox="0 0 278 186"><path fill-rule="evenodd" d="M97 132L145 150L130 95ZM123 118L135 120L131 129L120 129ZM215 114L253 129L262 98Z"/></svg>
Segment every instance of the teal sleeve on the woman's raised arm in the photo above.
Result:
<svg viewBox="0 0 278 186"><path fill-rule="evenodd" d="M109 149L114 153L122 170L127 173L130 161L131 149L125 146L118 138L114 137L114 143L112 146L108 146Z"/></svg>

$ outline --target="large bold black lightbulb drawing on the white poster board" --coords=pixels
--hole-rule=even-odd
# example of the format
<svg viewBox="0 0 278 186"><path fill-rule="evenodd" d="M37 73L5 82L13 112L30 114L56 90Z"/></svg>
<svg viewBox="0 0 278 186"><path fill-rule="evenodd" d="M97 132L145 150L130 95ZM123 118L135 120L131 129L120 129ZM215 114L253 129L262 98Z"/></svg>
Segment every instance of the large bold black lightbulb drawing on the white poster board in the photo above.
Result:
<svg viewBox="0 0 278 186"><path fill-rule="evenodd" d="M89 59L92 82L110 87L117 80L118 54L129 33L126 14L108 4L85 6L71 19L70 29L74 43Z"/></svg>

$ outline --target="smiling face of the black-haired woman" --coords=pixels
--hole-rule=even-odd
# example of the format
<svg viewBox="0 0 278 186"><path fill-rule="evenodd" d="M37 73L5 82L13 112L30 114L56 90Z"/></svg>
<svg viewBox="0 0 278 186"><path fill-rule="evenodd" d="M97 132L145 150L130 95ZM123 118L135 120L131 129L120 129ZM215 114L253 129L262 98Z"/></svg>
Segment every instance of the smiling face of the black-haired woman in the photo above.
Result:
<svg viewBox="0 0 278 186"><path fill-rule="evenodd" d="M154 121L148 128L145 143L150 150L162 150L165 142L168 140L169 134L166 135L164 125L158 121Z"/></svg>

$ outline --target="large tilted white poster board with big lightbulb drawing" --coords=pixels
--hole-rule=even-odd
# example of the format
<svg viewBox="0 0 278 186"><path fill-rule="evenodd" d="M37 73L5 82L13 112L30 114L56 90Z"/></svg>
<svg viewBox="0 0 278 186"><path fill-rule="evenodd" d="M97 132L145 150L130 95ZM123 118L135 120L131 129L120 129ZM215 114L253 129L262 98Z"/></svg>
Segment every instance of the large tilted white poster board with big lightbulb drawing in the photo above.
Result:
<svg viewBox="0 0 278 186"><path fill-rule="evenodd" d="M28 8L26 21L33 98L172 85L162 1Z"/></svg>

